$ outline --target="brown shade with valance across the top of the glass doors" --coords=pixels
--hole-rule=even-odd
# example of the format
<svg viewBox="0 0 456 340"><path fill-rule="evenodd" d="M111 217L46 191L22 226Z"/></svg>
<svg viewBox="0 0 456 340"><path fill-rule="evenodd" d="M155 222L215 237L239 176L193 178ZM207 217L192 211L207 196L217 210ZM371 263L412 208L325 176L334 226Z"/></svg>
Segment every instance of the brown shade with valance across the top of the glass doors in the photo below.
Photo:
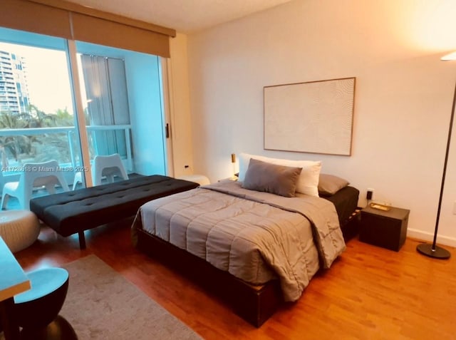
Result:
<svg viewBox="0 0 456 340"><path fill-rule="evenodd" d="M1 0L0 26L170 57L174 29L64 0Z"/></svg>

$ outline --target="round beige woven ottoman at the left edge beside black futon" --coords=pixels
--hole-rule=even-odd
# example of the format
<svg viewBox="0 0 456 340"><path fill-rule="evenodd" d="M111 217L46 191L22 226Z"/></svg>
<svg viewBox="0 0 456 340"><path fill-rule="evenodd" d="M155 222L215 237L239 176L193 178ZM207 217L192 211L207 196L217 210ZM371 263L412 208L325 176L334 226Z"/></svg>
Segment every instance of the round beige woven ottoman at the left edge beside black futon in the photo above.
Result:
<svg viewBox="0 0 456 340"><path fill-rule="evenodd" d="M33 244L40 233L38 217L28 210L6 210L0 212L0 236L11 252Z"/></svg>

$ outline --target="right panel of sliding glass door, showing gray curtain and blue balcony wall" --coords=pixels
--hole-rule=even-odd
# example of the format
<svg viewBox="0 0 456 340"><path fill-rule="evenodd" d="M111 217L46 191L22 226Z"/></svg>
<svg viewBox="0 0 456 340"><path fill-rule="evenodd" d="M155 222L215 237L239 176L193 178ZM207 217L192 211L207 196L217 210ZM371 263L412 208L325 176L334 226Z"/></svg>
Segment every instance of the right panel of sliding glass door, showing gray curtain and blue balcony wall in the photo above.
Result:
<svg viewBox="0 0 456 340"><path fill-rule="evenodd" d="M160 58L76 42L90 159L118 153L132 175L165 175Z"/></svg>

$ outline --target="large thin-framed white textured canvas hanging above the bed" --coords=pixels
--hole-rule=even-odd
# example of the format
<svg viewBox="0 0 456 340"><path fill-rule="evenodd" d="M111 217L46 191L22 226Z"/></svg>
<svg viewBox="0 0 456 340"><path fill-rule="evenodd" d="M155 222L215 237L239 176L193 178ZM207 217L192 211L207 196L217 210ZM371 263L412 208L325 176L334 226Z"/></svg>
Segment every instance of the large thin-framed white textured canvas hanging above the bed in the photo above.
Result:
<svg viewBox="0 0 456 340"><path fill-rule="evenodd" d="M351 155L356 78L264 87L264 149Z"/></svg>

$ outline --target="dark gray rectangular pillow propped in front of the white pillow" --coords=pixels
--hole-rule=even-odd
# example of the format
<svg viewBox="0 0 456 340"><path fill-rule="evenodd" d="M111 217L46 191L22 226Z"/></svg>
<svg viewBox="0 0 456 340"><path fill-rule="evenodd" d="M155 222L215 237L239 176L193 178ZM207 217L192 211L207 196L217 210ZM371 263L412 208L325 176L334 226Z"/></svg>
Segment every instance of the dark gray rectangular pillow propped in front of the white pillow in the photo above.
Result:
<svg viewBox="0 0 456 340"><path fill-rule="evenodd" d="M286 167L251 158L242 187L294 197L301 170L302 168Z"/></svg>

